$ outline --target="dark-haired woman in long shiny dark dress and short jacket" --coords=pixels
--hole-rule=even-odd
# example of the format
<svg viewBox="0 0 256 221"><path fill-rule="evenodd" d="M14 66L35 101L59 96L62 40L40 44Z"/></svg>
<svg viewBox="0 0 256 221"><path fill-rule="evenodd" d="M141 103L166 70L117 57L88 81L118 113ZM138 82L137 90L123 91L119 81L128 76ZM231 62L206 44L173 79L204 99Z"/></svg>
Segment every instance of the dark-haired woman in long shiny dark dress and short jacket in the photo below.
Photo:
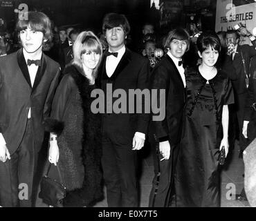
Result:
<svg viewBox="0 0 256 221"><path fill-rule="evenodd" d="M221 43L205 32L196 41L202 63L185 71L188 103L185 135L175 175L176 206L220 206L219 155L228 154L228 104L232 86L215 67Z"/></svg>

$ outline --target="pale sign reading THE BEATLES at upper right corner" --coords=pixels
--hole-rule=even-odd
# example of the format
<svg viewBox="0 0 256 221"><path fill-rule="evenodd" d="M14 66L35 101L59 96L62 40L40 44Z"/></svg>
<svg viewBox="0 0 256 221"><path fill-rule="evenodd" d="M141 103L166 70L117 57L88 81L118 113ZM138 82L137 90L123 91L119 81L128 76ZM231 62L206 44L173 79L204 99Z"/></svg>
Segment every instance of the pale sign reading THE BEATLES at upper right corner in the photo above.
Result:
<svg viewBox="0 0 256 221"><path fill-rule="evenodd" d="M242 23L249 31L252 31L256 26L256 3L250 2L217 0L215 31L234 29L237 23Z"/></svg>

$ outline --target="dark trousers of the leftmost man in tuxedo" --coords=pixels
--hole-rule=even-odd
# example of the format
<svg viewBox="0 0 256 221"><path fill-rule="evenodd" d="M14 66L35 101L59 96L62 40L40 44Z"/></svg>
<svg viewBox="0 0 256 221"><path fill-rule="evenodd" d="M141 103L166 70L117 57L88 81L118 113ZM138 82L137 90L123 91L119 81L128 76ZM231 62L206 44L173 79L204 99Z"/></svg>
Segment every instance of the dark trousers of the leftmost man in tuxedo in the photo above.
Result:
<svg viewBox="0 0 256 221"><path fill-rule="evenodd" d="M17 151L10 155L10 160L0 162L0 206L33 206L33 180L38 154L31 126L28 119L23 140Z"/></svg>

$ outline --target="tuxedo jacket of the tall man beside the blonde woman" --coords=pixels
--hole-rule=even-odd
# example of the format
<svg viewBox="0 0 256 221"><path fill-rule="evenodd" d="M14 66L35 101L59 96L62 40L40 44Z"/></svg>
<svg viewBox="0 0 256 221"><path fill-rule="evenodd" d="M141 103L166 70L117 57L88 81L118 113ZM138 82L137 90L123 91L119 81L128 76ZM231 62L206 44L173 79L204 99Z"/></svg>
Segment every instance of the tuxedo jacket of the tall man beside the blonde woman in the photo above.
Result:
<svg viewBox="0 0 256 221"><path fill-rule="evenodd" d="M104 54L102 57L101 64L98 69L98 84L105 92L106 99L106 85L111 84L113 90L122 89L125 90L127 95L127 113L105 113L103 117L112 124L107 124L107 129L112 133L115 133L122 142L124 140L130 140L134 136L135 132L147 134L149 125L150 113L142 111L142 113L136 113L136 97L135 102L129 104L129 89L149 89L149 61L132 52L128 48L125 49L125 54L119 61L116 70L111 77L107 76L106 73L106 59L107 56ZM112 104L118 98L113 98ZM147 100L147 102L150 102ZM142 99L142 107L145 104L145 98ZM134 107L134 113L129 113L129 106ZM106 107L106 104L105 104ZM149 110L150 111L150 110Z"/></svg>

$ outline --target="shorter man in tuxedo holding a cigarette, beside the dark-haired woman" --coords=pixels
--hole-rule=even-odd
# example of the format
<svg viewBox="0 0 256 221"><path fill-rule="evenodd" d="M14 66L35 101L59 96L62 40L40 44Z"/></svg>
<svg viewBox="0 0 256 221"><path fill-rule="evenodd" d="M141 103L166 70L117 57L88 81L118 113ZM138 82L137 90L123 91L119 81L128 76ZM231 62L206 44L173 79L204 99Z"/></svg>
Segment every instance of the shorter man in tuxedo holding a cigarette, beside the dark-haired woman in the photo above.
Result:
<svg viewBox="0 0 256 221"><path fill-rule="evenodd" d="M156 103L160 108L165 108L165 118L162 121L152 120L149 128L150 143L156 150L155 176L149 196L149 206L163 207L170 204L187 99L182 57L189 46L190 37L187 31L183 28L171 30L165 41L168 52L152 72L151 88L157 89L158 93L160 89L165 90L165 106L160 106L160 95L152 101L153 106L156 106Z"/></svg>

